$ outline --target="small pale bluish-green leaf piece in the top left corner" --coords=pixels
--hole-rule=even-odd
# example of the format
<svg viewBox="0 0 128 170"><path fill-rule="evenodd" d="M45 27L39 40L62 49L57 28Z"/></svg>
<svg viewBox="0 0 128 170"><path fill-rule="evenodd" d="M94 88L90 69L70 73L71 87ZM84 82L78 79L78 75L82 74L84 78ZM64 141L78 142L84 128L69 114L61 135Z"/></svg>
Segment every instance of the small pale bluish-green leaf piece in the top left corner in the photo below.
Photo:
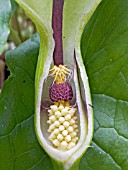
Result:
<svg viewBox="0 0 128 170"><path fill-rule="evenodd" d="M0 54L4 50L4 45L7 41L9 30L9 20L11 16L11 2L10 0L0 1Z"/></svg>

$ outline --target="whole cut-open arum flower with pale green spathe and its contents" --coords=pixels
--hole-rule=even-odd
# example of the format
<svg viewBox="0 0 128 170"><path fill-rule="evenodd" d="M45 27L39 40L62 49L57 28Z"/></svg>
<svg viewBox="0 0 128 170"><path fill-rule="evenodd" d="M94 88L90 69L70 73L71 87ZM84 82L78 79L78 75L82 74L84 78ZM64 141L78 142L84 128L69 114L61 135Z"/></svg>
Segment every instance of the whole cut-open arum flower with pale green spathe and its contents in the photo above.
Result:
<svg viewBox="0 0 128 170"><path fill-rule="evenodd" d="M93 136L93 106L80 52L85 24L101 0L17 0L36 24L35 131L55 170L78 169Z"/></svg>

